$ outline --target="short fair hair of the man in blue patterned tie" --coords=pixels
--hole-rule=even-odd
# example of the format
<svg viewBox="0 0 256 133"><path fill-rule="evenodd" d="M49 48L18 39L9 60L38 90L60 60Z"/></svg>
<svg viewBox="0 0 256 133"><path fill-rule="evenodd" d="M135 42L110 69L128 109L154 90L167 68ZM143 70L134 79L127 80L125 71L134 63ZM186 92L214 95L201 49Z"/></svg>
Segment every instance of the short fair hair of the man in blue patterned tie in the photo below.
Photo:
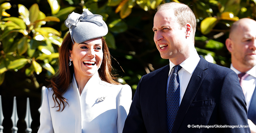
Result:
<svg viewBox="0 0 256 133"><path fill-rule="evenodd" d="M182 29L186 23L190 23L194 31L193 35L195 36L197 20L195 14L187 5L176 2L158 5L157 11L161 11L163 9L173 9L176 22L180 25L180 29Z"/></svg>

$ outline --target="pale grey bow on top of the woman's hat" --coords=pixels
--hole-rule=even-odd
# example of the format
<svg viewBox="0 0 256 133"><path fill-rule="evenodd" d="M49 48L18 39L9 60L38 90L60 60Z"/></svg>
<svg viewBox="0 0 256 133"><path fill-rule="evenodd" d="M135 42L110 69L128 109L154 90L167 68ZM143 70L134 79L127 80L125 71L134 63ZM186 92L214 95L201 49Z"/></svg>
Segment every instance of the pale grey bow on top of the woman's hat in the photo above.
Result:
<svg viewBox="0 0 256 133"><path fill-rule="evenodd" d="M69 32L70 32L73 44L74 44L74 41L73 41L73 32L71 28L72 25L76 26L79 22L91 22L91 23L95 23L98 26L102 26L103 25L102 18L103 17L101 15L92 14L88 9L86 9L83 14L78 14L74 12L69 14L67 20L65 20L65 25L69 28Z"/></svg>

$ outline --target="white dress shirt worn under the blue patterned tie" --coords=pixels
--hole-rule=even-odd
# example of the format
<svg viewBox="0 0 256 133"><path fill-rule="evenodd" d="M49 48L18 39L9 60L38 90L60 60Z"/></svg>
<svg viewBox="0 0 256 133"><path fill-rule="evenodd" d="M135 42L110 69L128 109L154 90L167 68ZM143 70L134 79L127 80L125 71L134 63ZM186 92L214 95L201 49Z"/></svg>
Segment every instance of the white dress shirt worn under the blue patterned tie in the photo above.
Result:
<svg viewBox="0 0 256 133"><path fill-rule="evenodd" d="M195 49L189 58L187 58L185 61L180 63L180 66L182 67L180 69L180 71L178 72L179 79L180 79L180 103L181 103L183 95L186 91L187 85L190 81L190 78L191 78L195 68L197 67L197 64L199 61L200 61L200 57L198 56L197 50ZM168 81L167 81L167 92L168 92L169 80L173 73L173 66L175 66L175 65L170 61L170 71L169 71L169 77L168 77Z"/></svg>

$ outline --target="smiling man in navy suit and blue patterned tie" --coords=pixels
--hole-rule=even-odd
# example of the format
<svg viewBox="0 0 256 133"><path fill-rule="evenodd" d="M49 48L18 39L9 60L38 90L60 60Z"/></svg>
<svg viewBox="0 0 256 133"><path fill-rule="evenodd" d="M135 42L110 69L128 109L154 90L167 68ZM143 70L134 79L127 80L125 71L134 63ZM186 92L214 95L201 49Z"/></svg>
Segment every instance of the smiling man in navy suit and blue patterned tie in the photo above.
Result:
<svg viewBox="0 0 256 133"><path fill-rule="evenodd" d="M154 41L170 64L141 77L123 133L249 133L249 128L194 126L248 125L237 75L208 63L194 47L196 18L184 4L160 5Z"/></svg>

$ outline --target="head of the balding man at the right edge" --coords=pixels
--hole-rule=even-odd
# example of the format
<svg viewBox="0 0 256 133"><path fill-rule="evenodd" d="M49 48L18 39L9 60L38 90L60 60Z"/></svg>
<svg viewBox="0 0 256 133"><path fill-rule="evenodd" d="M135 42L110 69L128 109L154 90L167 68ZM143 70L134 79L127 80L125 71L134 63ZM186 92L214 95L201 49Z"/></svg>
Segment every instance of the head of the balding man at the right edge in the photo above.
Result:
<svg viewBox="0 0 256 133"><path fill-rule="evenodd" d="M232 63L250 68L256 65L256 23L239 25L233 32Z"/></svg>

